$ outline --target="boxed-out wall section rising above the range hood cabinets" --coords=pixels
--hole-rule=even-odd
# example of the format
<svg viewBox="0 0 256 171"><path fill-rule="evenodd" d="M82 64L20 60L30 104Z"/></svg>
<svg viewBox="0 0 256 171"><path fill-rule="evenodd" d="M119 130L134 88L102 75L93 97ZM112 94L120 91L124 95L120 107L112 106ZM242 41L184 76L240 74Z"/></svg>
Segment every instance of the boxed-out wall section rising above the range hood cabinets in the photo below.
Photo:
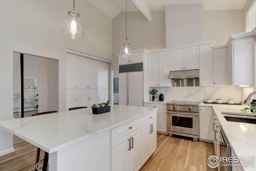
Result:
<svg viewBox="0 0 256 171"><path fill-rule="evenodd" d="M203 4L166 5L166 48L202 42Z"/></svg>

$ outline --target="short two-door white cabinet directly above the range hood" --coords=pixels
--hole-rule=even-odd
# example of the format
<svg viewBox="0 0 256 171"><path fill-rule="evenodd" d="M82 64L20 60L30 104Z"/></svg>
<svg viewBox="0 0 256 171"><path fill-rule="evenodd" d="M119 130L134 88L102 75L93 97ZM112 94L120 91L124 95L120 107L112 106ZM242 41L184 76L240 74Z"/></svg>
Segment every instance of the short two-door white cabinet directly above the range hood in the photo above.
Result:
<svg viewBox="0 0 256 171"><path fill-rule="evenodd" d="M199 69L199 46L170 50L170 71Z"/></svg>

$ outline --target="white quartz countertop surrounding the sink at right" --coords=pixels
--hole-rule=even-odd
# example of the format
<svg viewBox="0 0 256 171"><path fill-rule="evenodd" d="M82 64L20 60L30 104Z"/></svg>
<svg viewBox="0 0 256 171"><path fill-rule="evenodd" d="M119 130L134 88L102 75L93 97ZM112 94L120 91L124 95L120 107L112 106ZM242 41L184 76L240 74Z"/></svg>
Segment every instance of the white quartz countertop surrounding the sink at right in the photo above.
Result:
<svg viewBox="0 0 256 171"><path fill-rule="evenodd" d="M237 157L256 156L256 124L227 121L222 115L222 113L241 114L240 109L248 106L204 103L200 103L200 106L213 107L231 148ZM245 171L256 170L252 167L242 168Z"/></svg>

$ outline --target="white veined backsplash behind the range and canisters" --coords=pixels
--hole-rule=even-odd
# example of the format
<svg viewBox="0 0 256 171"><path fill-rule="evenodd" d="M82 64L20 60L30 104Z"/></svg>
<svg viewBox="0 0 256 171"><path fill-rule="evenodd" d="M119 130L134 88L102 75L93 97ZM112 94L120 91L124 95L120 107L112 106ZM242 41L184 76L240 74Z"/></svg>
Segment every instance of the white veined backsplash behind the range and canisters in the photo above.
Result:
<svg viewBox="0 0 256 171"><path fill-rule="evenodd" d="M158 94L164 93L164 101L171 100L188 100L203 101L211 98L213 102L216 99L222 99L228 102L228 99L234 99L234 103L242 101L241 87L154 87L158 90ZM206 96L205 92L210 92ZM158 98L158 96L156 96Z"/></svg>

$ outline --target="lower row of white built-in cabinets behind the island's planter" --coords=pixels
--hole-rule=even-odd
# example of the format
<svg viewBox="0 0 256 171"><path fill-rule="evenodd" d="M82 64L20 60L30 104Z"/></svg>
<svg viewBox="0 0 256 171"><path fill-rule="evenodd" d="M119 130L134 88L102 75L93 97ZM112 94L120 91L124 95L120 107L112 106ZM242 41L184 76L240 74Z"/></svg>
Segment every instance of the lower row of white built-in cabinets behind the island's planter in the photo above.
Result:
<svg viewBox="0 0 256 171"><path fill-rule="evenodd" d="M108 89L66 89L66 108L87 106L108 101Z"/></svg>

